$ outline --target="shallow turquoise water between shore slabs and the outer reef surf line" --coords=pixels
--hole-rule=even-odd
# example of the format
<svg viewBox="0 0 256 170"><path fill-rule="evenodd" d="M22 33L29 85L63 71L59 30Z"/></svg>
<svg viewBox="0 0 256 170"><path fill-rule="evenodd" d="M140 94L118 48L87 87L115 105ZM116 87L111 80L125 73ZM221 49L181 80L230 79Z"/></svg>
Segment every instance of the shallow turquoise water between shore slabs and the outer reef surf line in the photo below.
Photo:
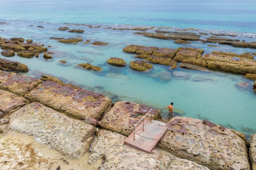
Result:
<svg viewBox="0 0 256 170"><path fill-rule="evenodd" d="M39 58L31 59L2 56L28 65L28 75L50 74L84 88L95 89L95 87L101 86L102 90L117 95L116 100L138 102L156 108L163 108L170 102L174 102L176 111L182 116L208 119L216 124L241 131L246 135L256 131L256 94L251 90L252 80L245 79L241 75L219 71L202 72L183 68L170 70L169 66L158 64L154 64L154 68L149 72L138 72L129 68L130 61L137 60L137 58L133 54L122 52L122 48L130 44L171 48L198 47L205 50L205 53L216 50L238 54L255 53L253 49L219 44L217 47L209 47L199 41L192 42L191 45L184 45L174 43L173 40L159 40L133 34L135 31L68 26L72 29L84 30L84 33L75 34L68 31L58 31L59 27L65 25L52 22L5 21L9 24L1 25L1 37L32 38L34 42L41 42L45 46L51 45L49 51L55 53L52 55L52 60L45 60L42 58L42 54ZM37 26L44 28L37 28ZM49 39L50 37L70 38L76 36L82 36L81 38L84 40L91 40L92 42L109 42L110 45L65 44ZM255 40L248 37L238 38ZM127 66L119 68L107 64L106 60L110 57L124 59ZM59 60L66 60L67 64L61 65L58 63ZM76 67L79 63L87 62L101 66L103 71L94 72ZM170 76L162 80L156 76L159 72L168 72ZM190 78L188 80L178 79L175 77L177 73L187 74ZM246 90L238 89L236 84L239 82L247 82L250 87Z"/></svg>

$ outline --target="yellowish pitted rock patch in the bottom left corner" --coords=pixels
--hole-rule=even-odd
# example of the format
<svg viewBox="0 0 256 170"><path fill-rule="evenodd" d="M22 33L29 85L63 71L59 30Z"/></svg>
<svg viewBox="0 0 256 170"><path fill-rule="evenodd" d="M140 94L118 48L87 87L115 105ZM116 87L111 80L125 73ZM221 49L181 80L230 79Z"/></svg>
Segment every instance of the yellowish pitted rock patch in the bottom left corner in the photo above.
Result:
<svg viewBox="0 0 256 170"><path fill-rule="evenodd" d="M32 144L23 144L9 138L0 138L0 168L16 169L52 169L48 160L39 156Z"/></svg>

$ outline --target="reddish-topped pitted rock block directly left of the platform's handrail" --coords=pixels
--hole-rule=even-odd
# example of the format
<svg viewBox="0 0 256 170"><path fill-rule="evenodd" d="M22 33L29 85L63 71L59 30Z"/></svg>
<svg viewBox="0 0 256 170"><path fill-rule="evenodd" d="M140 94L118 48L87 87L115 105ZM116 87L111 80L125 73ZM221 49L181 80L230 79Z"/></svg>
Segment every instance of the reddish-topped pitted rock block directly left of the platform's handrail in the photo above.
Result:
<svg viewBox="0 0 256 170"><path fill-rule="evenodd" d="M106 112L98 124L114 132L130 135L133 132L134 125L152 108L132 102L116 102L115 105ZM153 119L158 118L156 109L151 111Z"/></svg>

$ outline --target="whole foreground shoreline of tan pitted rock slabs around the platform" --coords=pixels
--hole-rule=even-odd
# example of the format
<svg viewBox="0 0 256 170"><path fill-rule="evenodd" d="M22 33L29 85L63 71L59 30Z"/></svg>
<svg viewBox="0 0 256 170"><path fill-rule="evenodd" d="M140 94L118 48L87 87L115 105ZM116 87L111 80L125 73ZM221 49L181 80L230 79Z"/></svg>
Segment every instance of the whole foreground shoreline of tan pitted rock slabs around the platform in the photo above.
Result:
<svg viewBox="0 0 256 170"><path fill-rule="evenodd" d="M112 104L103 94L61 84L57 79L41 81L0 72L0 80L4 96L0 99L2 169L62 169L71 167L66 162L72 159L86 160L90 169L255 168L255 135L249 143L242 133L207 120L175 117L157 148L146 154L123 141L150 107L127 101ZM157 110L152 114L159 118ZM54 163L31 144L24 144L27 149L22 149L20 141L11 138L12 131L33 136L36 143L64 155L66 162ZM16 149L7 144L16 145ZM29 159L24 152L34 158ZM19 157L19 161L10 156Z"/></svg>

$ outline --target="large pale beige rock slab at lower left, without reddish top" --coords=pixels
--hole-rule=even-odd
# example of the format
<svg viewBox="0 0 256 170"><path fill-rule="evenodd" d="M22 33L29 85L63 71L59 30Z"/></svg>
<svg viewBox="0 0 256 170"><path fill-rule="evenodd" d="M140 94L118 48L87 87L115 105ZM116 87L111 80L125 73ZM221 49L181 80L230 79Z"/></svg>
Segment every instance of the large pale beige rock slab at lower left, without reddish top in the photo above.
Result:
<svg viewBox="0 0 256 170"><path fill-rule="evenodd" d="M90 148L95 127L70 118L39 103L31 103L10 115L9 129L32 135L71 159Z"/></svg>

